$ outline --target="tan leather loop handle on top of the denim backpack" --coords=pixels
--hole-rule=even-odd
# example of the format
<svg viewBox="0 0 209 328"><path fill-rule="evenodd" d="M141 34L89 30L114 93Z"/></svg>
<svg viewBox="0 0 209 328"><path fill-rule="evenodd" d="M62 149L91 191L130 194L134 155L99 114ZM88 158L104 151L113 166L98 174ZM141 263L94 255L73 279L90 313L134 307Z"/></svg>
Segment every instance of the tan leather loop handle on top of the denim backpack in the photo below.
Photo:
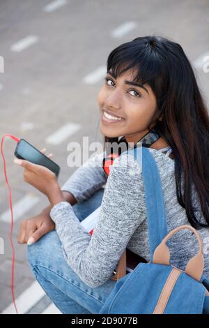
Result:
<svg viewBox="0 0 209 328"><path fill-rule="evenodd" d="M180 227L171 230L171 232L164 237L162 242L155 248L153 263L170 265L170 251L166 243L173 234L183 229L191 230L199 242L199 253L189 260L185 268L185 273L189 274L189 276L192 276L192 278L197 281L200 281L204 269L203 244L199 233L190 225L180 225Z"/></svg>

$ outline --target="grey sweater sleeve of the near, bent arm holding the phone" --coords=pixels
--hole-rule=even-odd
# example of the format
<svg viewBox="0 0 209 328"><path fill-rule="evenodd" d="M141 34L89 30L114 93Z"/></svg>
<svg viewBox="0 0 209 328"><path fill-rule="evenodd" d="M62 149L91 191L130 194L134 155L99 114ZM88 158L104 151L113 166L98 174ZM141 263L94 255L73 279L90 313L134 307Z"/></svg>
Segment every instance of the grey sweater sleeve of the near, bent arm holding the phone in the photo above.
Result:
<svg viewBox="0 0 209 328"><path fill-rule="evenodd" d="M128 160L127 160L128 158ZM65 260L79 278L96 288L111 278L128 241L144 218L141 167L132 155L121 155L110 167L98 223L91 236L68 202L50 211Z"/></svg>

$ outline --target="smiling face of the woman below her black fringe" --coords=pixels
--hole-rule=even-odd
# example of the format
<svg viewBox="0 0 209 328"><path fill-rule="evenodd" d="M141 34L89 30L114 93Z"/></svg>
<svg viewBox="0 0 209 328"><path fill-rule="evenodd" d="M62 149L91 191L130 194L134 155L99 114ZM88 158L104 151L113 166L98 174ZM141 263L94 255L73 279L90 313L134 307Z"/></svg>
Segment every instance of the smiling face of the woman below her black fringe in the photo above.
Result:
<svg viewBox="0 0 209 328"><path fill-rule="evenodd" d="M98 94L100 131L107 137L124 135L127 142L137 142L148 133L148 125L153 120L155 95L148 84L133 85L133 70L127 70L117 79L110 72L106 78ZM151 128L153 126L155 124L151 124Z"/></svg>

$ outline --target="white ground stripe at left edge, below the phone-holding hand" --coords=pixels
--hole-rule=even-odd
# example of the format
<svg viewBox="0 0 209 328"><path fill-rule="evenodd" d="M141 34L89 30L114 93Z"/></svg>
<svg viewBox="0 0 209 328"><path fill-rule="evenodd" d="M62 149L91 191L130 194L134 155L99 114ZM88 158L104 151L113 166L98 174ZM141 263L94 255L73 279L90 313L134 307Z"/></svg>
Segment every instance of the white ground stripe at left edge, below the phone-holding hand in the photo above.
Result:
<svg viewBox="0 0 209 328"><path fill-rule="evenodd" d="M34 207L38 202L40 201L40 198L36 195L33 195L31 193L25 195L22 197L19 202L16 202L13 204L13 219L14 221L17 221L18 218L22 218L24 214L29 211L32 207ZM11 221L11 212L10 209L3 212L3 214L0 217L0 221L10 223Z"/></svg>

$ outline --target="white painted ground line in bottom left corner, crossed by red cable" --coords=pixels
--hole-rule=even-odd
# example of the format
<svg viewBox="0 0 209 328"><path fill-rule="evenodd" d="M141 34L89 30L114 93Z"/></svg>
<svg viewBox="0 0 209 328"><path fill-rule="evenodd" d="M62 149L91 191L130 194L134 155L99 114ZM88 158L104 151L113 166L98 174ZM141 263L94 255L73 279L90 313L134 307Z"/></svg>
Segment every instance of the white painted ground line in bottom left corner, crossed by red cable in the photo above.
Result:
<svg viewBox="0 0 209 328"><path fill-rule="evenodd" d="M45 291L42 290L39 283L35 281L32 283L32 285L24 290L22 294L17 297L16 305L17 305L17 311L20 314L24 314L27 311L29 311L30 308L32 308L42 297L45 296ZM10 304L7 308L1 312L1 314L15 314L15 308L13 303Z"/></svg>

